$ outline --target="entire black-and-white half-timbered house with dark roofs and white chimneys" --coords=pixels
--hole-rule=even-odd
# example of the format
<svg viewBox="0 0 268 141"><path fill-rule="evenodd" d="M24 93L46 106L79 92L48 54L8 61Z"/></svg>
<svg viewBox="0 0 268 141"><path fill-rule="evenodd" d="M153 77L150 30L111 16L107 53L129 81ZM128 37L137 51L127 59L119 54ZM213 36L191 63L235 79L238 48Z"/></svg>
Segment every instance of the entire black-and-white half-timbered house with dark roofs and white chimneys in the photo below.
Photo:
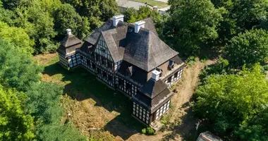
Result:
<svg viewBox="0 0 268 141"><path fill-rule="evenodd" d="M184 63L178 52L157 35L152 18L136 23L114 16L81 40L67 30L57 50L65 68L83 68L132 99L132 115L145 125L169 110L169 86L181 79Z"/></svg>

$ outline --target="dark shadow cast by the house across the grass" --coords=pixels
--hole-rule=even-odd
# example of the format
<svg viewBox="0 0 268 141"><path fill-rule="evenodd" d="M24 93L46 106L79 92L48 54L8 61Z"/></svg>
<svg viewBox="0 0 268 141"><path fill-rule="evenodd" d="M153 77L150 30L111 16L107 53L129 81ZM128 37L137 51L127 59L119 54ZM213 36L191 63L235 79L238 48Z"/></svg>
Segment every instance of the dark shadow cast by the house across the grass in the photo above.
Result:
<svg viewBox="0 0 268 141"><path fill-rule="evenodd" d="M104 130L108 130L112 135L127 140L131 135L140 133L144 128L139 121L131 116L132 104L130 104L130 99L106 87L96 79L95 75L84 68L67 71L58 63L54 63L44 68L44 74L49 76L61 74L61 81L66 83L64 94L68 94L72 99L78 101L93 99L96 102L95 106L102 106L110 112L120 113L104 126Z"/></svg>

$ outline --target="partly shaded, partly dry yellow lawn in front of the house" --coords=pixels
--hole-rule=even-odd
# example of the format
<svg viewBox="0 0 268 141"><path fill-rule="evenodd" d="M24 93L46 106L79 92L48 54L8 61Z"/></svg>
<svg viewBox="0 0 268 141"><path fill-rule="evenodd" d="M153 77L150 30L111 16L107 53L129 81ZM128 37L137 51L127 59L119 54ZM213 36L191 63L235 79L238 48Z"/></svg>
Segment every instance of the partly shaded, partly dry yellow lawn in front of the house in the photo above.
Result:
<svg viewBox="0 0 268 141"><path fill-rule="evenodd" d="M131 116L130 99L106 87L84 68L68 71L57 63L56 54L43 54L35 59L44 66L43 81L63 85L61 106L66 114L72 115L71 121L84 135L102 140L127 140L145 128Z"/></svg>

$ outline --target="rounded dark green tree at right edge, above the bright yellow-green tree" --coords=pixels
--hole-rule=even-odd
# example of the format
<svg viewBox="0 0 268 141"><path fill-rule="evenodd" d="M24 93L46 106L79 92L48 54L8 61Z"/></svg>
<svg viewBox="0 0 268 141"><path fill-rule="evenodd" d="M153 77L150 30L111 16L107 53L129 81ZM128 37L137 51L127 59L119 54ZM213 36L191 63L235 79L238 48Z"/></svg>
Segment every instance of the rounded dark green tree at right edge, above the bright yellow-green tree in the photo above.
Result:
<svg viewBox="0 0 268 141"><path fill-rule="evenodd" d="M265 63L268 59L268 32L250 30L231 39L226 46L226 57L234 67L244 63Z"/></svg>

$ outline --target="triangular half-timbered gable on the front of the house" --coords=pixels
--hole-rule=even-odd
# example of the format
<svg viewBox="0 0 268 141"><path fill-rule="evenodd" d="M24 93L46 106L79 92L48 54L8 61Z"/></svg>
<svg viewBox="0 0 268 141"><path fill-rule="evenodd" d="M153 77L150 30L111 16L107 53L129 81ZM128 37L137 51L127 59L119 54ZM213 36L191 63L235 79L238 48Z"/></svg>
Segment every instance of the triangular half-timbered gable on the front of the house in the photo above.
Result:
<svg viewBox="0 0 268 141"><path fill-rule="evenodd" d="M104 56L105 59L108 59L109 61L114 62L114 60L111 58L111 53L107 47L107 44L105 42L105 39L102 35L99 37L99 41L97 44L97 47L95 49L95 54L99 54L100 56Z"/></svg>

